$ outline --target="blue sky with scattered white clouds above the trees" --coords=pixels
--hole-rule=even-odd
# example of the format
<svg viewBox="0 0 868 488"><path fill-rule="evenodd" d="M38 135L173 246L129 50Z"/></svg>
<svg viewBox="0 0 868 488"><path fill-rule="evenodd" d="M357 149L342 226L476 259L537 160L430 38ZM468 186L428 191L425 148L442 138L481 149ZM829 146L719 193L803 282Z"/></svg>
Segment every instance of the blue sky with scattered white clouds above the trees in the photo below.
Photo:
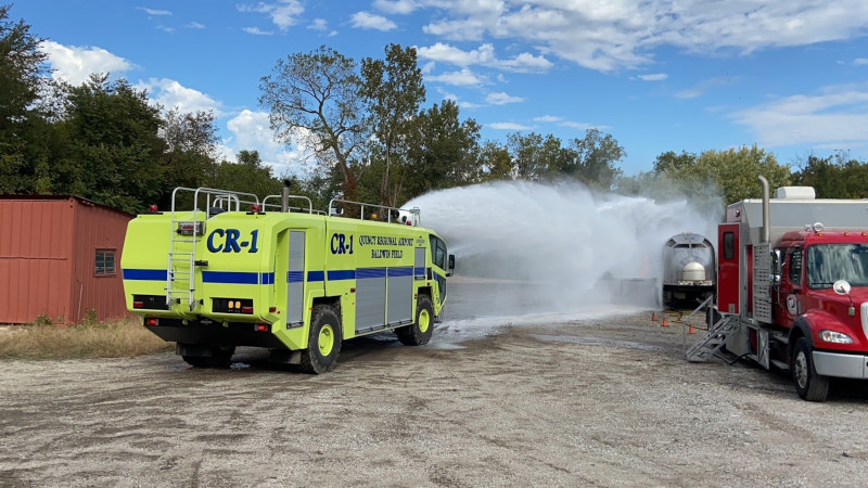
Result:
<svg viewBox="0 0 868 488"><path fill-rule="evenodd" d="M26 0L53 76L110 72L166 107L213 110L224 152L258 150L278 175L297 147L271 139L259 78L326 44L357 61L418 49L424 106L456 100L483 140L566 141L588 128L658 154L757 144L784 164L868 159L865 0Z"/></svg>

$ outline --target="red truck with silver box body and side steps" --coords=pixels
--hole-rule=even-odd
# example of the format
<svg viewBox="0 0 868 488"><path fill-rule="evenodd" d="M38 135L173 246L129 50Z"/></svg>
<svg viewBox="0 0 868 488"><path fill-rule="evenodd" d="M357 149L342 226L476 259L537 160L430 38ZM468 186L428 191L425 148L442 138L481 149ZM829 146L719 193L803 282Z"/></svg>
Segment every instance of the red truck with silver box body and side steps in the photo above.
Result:
<svg viewBox="0 0 868 488"><path fill-rule="evenodd" d="M716 305L691 361L719 349L792 373L805 400L832 377L868 378L868 201L819 200L808 187L727 207L718 228Z"/></svg>

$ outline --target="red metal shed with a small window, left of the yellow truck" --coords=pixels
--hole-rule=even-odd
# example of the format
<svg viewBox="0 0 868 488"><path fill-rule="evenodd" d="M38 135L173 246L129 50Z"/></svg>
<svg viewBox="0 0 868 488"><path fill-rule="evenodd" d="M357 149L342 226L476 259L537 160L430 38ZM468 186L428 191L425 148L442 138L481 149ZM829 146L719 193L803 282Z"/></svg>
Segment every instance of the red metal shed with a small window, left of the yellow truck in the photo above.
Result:
<svg viewBox="0 0 868 488"><path fill-rule="evenodd" d="M0 323L124 317L120 252L132 218L78 196L0 195Z"/></svg>

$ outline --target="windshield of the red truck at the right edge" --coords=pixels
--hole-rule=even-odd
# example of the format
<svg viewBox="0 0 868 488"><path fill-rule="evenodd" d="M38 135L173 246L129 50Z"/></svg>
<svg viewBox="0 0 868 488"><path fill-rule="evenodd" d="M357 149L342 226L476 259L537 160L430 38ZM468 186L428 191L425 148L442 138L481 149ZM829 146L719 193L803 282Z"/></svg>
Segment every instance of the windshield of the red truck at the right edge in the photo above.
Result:
<svg viewBox="0 0 868 488"><path fill-rule="evenodd" d="M838 280L868 286L868 245L818 244L807 249L807 285L831 288Z"/></svg>

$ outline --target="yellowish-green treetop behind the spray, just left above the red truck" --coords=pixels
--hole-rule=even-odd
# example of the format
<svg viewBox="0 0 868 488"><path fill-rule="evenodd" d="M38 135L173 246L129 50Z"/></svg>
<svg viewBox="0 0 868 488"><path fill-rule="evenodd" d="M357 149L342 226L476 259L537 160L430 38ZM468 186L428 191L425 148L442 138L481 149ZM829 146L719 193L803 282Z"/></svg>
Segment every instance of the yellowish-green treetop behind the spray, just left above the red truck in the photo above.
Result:
<svg viewBox="0 0 868 488"><path fill-rule="evenodd" d="M756 145L711 150L699 156L662 153L654 163L654 174L693 188L716 185L727 204L762 196L760 175L768 179L773 189L790 183L790 168Z"/></svg>

